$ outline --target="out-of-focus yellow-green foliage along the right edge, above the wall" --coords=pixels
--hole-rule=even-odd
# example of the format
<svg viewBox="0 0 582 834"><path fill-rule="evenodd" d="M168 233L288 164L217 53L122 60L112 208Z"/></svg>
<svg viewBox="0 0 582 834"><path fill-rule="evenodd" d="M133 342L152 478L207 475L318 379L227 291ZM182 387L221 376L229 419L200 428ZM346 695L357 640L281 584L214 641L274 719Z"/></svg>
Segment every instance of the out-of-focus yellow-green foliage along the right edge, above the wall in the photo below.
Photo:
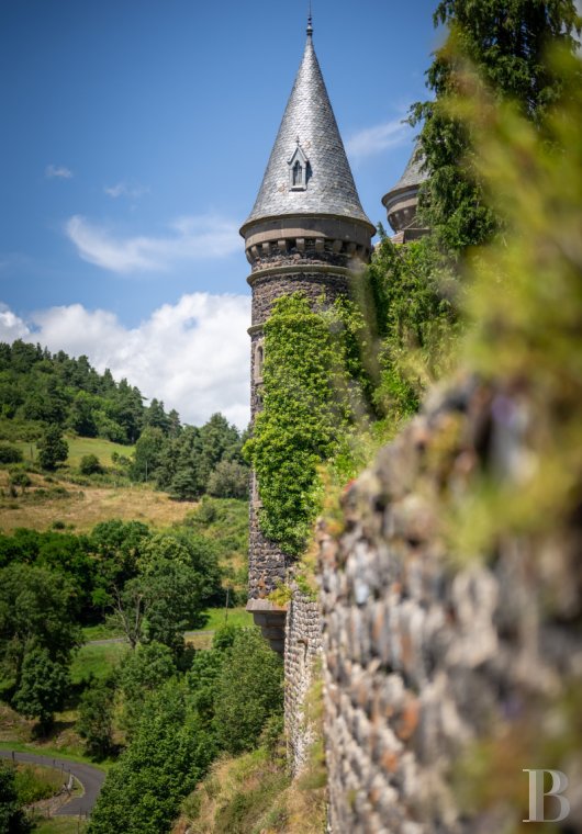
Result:
<svg viewBox="0 0 582 834"><path fill-rule="evenodd" d="M501 381L505 410L495 419L530 450L470 496L470 511L459 507L455 534L470 553L506 534L575 526L582 506L582 61L557 54L553 69L566 101L549 110L542 137L474 78L474 100L459 111L512 232L474 261L467 361Z"/></svg>

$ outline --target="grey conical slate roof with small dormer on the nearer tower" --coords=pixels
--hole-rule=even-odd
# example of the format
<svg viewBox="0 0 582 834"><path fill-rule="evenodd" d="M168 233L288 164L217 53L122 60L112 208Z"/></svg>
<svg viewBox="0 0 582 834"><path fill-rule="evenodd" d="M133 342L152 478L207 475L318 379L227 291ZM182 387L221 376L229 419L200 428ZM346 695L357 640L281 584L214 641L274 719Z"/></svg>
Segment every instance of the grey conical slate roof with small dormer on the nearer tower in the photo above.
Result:
<svg viewBox="0 0 582 834"><path fill-rule="evenodd" d="M303 59L262 184L243 229L258 219L290 214L332 214L370 224L354 184L311 32L310 24ZM309 164L303 190L290 187L289 162L298 146Z"/></svg>

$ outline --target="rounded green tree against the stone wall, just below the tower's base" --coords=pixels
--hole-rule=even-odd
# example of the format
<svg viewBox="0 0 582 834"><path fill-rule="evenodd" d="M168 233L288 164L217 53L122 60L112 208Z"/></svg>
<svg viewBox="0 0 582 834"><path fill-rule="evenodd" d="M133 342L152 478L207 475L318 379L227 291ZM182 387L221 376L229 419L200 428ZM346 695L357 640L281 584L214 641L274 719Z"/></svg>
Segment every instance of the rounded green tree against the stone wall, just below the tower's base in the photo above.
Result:
<svg viewBox="0 0 582 834"><path fill-rule="evenodd" d="M256 747L282 705L281 658L257 628L239 629L216 684L214 726L222 746L235 755Z"/></svg>

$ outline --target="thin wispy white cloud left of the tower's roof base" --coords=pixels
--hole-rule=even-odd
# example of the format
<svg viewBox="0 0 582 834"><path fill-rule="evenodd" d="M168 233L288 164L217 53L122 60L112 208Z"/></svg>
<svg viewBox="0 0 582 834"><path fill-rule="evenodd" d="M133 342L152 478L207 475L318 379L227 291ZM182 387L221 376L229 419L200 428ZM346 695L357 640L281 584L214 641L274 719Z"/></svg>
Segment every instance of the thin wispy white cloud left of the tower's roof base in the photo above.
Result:
<svg viewBox="0 0 582 834"><path fill-rule="evenodd" d="M79 256L112 272L165 272L179 261L225 258L240 248L234 221L212 215L180 217L165 237L120 237L75 215L65 232Z"/></svg>

